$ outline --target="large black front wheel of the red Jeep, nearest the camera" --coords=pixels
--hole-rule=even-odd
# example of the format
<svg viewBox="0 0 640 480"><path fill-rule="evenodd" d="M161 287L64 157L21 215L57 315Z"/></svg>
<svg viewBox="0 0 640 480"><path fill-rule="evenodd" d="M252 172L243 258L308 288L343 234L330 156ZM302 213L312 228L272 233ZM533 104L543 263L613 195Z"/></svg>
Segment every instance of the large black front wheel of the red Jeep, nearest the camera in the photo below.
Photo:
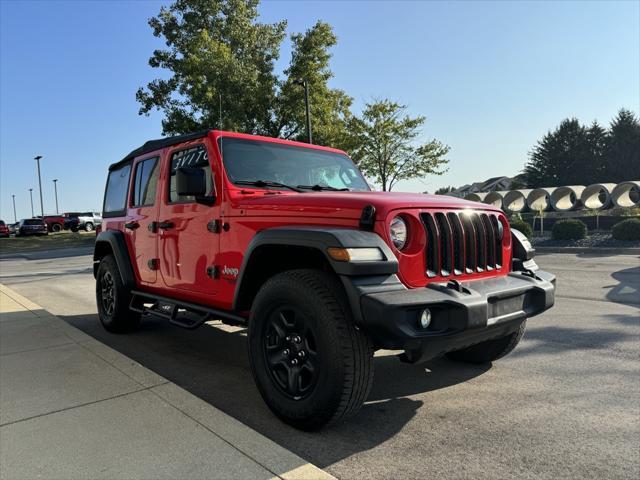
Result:
<svg viewBox="0 0 640 480"><path fill-rule="evenodd" d="M249 358L258 389L284 422L317 430L360 409L373 382L373 347L356 328L341 285L291 270L258 292Z"/></svg>

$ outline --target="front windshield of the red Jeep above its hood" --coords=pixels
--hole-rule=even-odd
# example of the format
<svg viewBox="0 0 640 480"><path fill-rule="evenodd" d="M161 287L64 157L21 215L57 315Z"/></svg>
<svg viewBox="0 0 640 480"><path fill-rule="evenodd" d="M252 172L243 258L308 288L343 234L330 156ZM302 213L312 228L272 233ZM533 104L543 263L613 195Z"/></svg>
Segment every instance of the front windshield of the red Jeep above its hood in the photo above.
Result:
<svg viewBox="0 0 640 480"><path fill-rule="evenodd" d="M328 187L339 190L370 190L360 171L346 155L256 140L220 139L222 160L229 180L272 182L258 186L285 189Z"/></svg>

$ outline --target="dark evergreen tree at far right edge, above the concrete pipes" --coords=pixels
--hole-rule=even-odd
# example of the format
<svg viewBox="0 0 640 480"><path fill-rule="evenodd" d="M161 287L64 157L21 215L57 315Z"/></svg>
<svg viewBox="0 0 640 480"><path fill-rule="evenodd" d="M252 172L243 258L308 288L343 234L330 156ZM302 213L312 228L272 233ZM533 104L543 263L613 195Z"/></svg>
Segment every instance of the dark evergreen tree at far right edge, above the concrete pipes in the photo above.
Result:
<svg viewBox="0 0 640 480"><path fill-rule="evenodd" d="M622 182L640 177L640 122L633 112L621 109L611 121L603 181Z"/></svg>

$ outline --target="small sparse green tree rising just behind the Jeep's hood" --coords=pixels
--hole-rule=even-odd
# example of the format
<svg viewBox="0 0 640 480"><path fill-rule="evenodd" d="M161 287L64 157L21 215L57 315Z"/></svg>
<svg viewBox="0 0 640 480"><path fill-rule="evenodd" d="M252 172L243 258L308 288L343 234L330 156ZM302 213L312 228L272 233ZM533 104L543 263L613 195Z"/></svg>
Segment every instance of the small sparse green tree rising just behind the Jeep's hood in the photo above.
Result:
<svg viewBox="0 0 640 480"><path fill-rule="evenodd" d="M381 100L351 121L353 159L362 172L390 191L400 180L442 175L449 147L438 140L418 144L425 117L405 115L406 106Z"/></svg>

